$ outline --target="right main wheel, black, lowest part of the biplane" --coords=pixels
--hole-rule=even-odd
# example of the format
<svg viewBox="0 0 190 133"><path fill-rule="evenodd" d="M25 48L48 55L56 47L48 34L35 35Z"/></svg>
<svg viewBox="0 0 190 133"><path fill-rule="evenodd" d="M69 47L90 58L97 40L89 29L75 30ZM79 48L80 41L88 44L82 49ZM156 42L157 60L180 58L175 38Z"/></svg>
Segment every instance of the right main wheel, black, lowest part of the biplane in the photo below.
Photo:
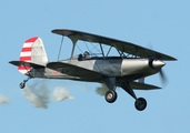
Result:
<svg viewBox="0 0 190 133"><path fill-rule="evenodd" d="M143 98L139 98L134 102L134 106L138 111L143 111L147 108L147 101Z"/></svg>

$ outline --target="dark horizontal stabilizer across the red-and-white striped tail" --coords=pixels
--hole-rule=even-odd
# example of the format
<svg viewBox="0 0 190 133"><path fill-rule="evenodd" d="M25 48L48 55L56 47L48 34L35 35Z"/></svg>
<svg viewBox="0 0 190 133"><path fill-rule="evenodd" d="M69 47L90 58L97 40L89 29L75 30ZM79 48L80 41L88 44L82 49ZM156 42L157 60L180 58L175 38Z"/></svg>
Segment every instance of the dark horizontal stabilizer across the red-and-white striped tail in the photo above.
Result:
<svg viewBox="0 0 190 133"><path fill-rule="evenodd" d="M26 62L26 61L10 61L9 63L17 65L17 66L26 66L26 68L28 66L32 66L34 69L44 68L43 65L31 63L31 62Z"/></svg>

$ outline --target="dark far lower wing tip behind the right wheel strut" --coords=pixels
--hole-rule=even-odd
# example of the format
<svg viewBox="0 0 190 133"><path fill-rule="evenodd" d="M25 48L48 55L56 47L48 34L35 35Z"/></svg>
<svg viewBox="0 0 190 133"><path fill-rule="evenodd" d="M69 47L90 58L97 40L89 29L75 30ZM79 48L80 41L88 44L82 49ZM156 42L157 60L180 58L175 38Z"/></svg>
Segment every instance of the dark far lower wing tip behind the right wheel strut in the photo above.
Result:
<svg viewBox="0 0 190 133"><path fill-rule="evenodd" d="M156 90L156 89L161 89L160 86L151 85L151 84L146 84L146 83L140 83L140 82L130 82L130 86L134 90Z"/></svg>

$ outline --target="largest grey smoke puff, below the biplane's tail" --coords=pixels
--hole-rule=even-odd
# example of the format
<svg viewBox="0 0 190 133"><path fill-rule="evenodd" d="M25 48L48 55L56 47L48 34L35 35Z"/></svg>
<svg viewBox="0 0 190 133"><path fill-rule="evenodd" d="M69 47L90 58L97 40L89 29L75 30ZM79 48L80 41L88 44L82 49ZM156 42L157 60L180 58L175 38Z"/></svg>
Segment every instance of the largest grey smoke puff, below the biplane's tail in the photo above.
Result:
<svg viewBox="0 0 190 133"><path fill-rule="evenodd" d="M36 81L32 85L26 86L23 95L36 108L47 109L49 103L49 90L46 83Z"/></svg>

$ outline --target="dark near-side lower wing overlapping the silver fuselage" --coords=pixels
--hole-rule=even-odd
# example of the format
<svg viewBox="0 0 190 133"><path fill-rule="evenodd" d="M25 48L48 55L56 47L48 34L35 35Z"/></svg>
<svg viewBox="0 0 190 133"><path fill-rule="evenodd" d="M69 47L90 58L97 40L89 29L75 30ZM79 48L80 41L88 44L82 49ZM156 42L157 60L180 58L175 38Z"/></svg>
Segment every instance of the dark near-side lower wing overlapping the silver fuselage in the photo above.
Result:
<svg viewBox="0 0 190 133"><path fill-rule="evenodd" d="M47 68L84 79L101 79L103 76L101 73L63 62L50 62L47 64Z"/></svg>

